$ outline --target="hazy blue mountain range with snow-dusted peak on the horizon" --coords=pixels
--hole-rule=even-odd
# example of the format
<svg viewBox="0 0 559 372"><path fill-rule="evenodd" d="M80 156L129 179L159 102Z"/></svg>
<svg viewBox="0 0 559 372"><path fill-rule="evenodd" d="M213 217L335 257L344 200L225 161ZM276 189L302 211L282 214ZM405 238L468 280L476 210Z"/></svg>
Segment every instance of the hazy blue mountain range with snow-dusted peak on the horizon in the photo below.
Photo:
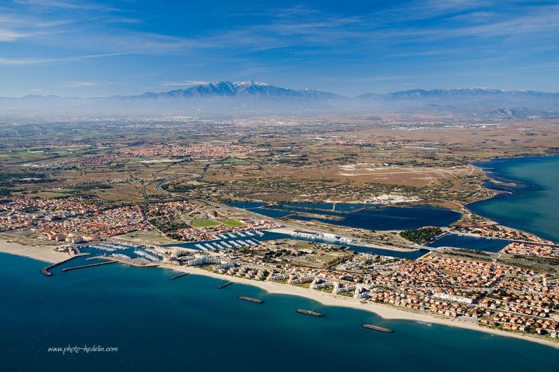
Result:
<svg viewBox="0 0 559 372"><path fill-rule="evenodd" d="M0 97L3 114L224 114L301 112L451 113L478 117L559 117L559 94L498 89L414 89L344 97L314 89L270 84L210 82L136 96Z"/></svg>

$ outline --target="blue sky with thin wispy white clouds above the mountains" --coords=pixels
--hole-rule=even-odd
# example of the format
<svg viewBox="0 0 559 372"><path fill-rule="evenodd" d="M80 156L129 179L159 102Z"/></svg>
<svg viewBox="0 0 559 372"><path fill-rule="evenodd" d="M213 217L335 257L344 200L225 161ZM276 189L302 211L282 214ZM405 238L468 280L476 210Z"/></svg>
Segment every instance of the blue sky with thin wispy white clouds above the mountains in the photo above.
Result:
<svg viewBox="0 0 559 372"><path fill-rule="evenodd" d="M558 1L0 1L0 95L559 91Z"/></svg>

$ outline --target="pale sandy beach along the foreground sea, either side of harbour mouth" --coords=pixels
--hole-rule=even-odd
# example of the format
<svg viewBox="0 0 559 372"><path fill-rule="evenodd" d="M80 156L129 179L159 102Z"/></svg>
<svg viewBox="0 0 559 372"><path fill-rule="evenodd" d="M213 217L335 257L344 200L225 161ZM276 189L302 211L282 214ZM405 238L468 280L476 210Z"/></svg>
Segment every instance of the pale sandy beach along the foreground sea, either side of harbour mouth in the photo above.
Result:
<svg viewBox="0 0 559 372"><path fill-rule="evenodd" d="M39 260L43 262L55 263L68 258L66 253L56 252L52 250L50 246L23 246L17 243L7 243L6 240L0 239L0 253L7 253L10 255L20 255L26 258L31 258L34 260ZM298 287L296 285L274 283L267 281L253 281L247 278L237 278L234 276L226 276L222 274L215 274L213 272L198 269L196 267L186 267L186 266L175 266L175 265L165 265L161 264L159 267L164 269L171 269L174 271L179 271L181 273L189 273L194 275L209 276L211 278L222 279L225 281L231 281L233 283L240 283L245 285L252 285L254 287L266 290L269 293L275 293L279 295L291 295L305 297L312 299L325 306L340 306L347 308L355 308L357 310L368 311L370 313L375 313L384 319L390 320L411 320L416 322L425 323L435 323L439 325L446 325L449 327L458 327L463 329L470 329L478 332L486 332L488 334L494 334L497 336L512 337L524 341L530 341L534 343L539 343L541 345L546 345L551 348L559 350L559 342L546 340L545 338L540 338L537 336L531 336L528 334L517 334L513 332L506 332L500 329L493 329L488 327L481 327L479 325L474 325L470 322L450 320L447 318L440 318L435 315L415 313L412 311L406 311L400 308L395 308L393 306L388 306L384 304L375 304L368 302L367 304L361 304L357 299L353 297L345 297L341 295L333 295L331 293L321 292L319 290L310 290L309 288Z"/></svg>

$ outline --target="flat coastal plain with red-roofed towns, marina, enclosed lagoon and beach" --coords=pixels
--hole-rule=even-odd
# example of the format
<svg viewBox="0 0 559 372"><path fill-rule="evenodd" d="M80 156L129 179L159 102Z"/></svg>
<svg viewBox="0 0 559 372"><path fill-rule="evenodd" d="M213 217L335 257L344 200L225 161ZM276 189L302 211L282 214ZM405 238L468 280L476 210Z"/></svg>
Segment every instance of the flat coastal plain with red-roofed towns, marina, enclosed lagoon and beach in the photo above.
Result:
<svg viewBox="0 0 559 372"><path fill-rule="evenodd" d="M260 120L98 123L110 137L78 122L75 140L55 123L31 142L13 129L0 138L0 250L55 276L166 267L556 344L558 244L470 209L505 193L472 159L521 155L511 143L546 151L553 131ZM480 130L498 138L485 158Z"/></svg>

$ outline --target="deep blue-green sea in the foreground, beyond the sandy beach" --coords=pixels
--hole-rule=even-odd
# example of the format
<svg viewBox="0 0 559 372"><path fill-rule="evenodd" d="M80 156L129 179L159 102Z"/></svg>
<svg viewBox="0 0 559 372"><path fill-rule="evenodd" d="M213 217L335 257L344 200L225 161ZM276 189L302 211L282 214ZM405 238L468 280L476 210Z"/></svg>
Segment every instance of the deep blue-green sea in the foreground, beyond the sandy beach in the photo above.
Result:
<svg viewBox="0 0 559 372"><path fill-rule="evenodd" d="M65 266L76 265L68 262ZM175 271L0 254L0 371L557 371L559 351ZM264 304L239 301L245 295ZM313 318L296 313L324 313ZM393 329L363 329L371 323ZM48 352L95 345L116 352Z"/></svg>

